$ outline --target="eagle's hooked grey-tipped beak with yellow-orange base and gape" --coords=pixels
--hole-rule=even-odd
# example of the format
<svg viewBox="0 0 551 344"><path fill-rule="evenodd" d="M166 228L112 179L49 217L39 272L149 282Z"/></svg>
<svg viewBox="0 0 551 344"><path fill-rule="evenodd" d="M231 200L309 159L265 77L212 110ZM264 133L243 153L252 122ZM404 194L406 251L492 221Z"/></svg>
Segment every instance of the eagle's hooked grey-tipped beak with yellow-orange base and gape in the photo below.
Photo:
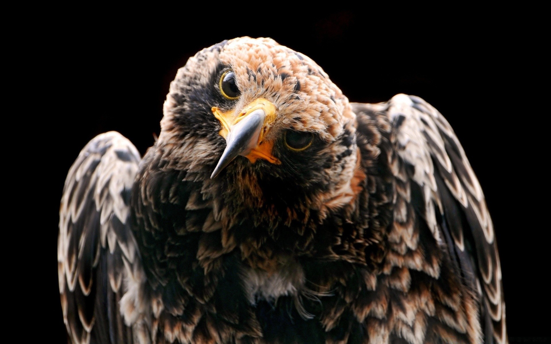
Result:
<svg viewBox="0 0 551 344"><path fill-rule="evenodd" d="M220 135L226 139L226 149L210 175L218 176L238 155L247 157L252 163L265 159L279 165L281 162L272 155L273 143L263 140L274 119L276 107L267 99L259 98L235 116L233 111L222 112L213 107L214 117L222 124Z"/></svg>

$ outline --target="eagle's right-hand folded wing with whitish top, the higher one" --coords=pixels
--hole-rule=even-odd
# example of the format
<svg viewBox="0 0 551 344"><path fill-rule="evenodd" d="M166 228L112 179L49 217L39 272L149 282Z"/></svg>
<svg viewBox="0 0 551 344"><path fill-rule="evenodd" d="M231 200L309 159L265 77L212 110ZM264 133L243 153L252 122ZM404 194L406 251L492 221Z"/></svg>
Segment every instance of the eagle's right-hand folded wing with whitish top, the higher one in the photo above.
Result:
<svg viewBox="0 0 551 344"><path fill-rule="evenodd" d="M387 103L353 103L353 108L360 116L369 112L390 122L390 141L398 156L388 156L390 168L397 179L407 179L404 182L411 185L404 194L406 201L413 202L413 184L422 194L424 204L417 209L423 214L416 221L425 221L440 247L447 247L461 281L478 293L484 342L506 342L493 224L478 179L450 124L429 103L403 94ZM408 172L398 171L399 163Z"/></svg>

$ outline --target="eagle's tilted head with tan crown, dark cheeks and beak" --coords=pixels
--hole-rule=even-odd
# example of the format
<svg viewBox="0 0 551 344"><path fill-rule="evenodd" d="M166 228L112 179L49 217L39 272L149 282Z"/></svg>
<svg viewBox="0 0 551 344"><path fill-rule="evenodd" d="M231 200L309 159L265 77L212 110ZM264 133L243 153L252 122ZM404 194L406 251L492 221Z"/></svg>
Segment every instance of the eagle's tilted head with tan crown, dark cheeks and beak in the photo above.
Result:
<svg viewBox="0 0 551 344"><path fill-rule="evenodd" d="M354 201L354 123L348 99L314 61L272 39L241 37L178 70L158 147L225 209L225 226L251 221L273 237L282 227L302 236L309 222Z"/></svg>

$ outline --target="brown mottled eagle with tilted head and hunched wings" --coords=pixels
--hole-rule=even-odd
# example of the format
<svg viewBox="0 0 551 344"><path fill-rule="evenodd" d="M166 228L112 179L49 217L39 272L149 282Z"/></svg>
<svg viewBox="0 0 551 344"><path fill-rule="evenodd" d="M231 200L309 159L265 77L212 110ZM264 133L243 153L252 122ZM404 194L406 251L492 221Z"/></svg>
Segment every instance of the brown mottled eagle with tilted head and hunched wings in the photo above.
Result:
<svg viewBox="0 0 551 344"><path fill-rule="evenodd" d="M178 70L144 157L116 132L64 184L73 343L505 343L495 232L435 108L351 103L272 39Z"/></svg>

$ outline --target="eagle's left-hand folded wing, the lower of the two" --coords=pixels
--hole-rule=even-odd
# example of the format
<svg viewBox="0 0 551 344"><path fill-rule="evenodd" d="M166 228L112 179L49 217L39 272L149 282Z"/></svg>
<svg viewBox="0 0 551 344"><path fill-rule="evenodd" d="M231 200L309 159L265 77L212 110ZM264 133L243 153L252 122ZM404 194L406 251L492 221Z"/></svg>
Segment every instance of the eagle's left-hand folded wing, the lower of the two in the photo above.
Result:
<svg viewBox="0 0 551 344"><path fill-rule="evenodd" d="M119 303L124 277L141 269L129 228L139 161L130 141L109 132L85 146L67 175L57 259L63 320L74 344L133 341Z"/></svg>

